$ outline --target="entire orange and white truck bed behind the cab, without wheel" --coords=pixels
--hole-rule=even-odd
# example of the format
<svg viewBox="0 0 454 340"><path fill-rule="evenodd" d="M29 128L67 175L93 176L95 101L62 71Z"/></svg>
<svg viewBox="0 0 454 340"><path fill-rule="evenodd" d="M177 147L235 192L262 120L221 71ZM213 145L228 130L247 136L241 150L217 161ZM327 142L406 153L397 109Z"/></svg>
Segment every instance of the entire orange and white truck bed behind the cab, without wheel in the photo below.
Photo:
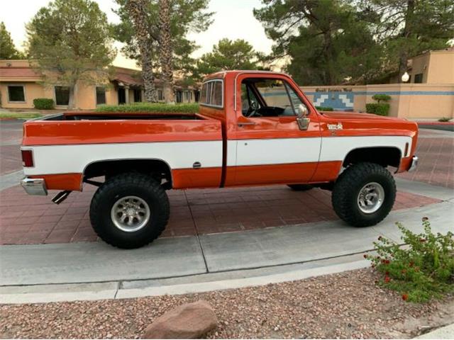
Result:
<svg viewBox="0 0 454 340"><path fill-rule="evenodd" d="M221 121L199 113L50 115L24 123L22 149L35 159L26 176L45 179L49 190L82 190L88 166L117 160L162 162L174 188L221 182Z"/></svg>

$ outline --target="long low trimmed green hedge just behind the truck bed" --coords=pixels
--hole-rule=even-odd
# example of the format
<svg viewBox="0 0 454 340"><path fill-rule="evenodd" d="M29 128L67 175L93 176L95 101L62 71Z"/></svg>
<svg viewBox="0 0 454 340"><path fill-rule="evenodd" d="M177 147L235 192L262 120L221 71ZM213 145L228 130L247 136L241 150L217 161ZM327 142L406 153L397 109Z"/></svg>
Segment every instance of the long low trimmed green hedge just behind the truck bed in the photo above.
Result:
<svg viewBox="0 0 454 340"><path fill-rule="evenodd" d="M150 113L198 113L198 103L131 103L122 105L101 105L96 108L97 112L150 112Z"/></svg>

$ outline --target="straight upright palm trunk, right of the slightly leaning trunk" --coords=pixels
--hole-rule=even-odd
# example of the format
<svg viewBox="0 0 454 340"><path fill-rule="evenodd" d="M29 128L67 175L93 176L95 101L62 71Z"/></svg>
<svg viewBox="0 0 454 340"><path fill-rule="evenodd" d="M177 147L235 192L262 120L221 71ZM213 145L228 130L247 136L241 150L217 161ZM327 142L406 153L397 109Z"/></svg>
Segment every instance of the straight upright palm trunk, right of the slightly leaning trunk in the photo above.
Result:
<svg viewBox="0 0 454 340"><path fill-rule="evenodd" d="M166 103L175 103L173 93L173 50L170 35L170 0L159 0L160 24L160 62L162 71L162 86Z"/></svg>

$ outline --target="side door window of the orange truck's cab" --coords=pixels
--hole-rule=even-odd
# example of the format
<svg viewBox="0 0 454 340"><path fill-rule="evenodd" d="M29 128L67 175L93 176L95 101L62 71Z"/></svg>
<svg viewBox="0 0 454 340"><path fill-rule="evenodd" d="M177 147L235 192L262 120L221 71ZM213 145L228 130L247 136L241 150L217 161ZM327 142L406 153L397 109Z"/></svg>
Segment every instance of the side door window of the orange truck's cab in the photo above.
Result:
<svg viewBox="0 0 454 340"><path fill-rule="evenodd" d="M304 103L287 82L280 79L248 78L241 84L245 117L282 117L299 114Z"/></svg>

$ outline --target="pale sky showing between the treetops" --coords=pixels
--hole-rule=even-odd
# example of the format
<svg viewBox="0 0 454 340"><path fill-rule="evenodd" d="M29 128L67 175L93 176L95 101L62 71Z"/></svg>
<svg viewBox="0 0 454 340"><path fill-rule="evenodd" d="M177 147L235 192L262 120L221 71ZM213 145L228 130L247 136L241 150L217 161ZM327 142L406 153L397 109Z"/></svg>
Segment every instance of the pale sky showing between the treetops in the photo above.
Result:
<svg viewBox="0 0 454 340"><path fill-rule="evenodd" d="M109 22L118 23L118 16L111 10L118 7L114 0L95 1L101 11L106 13ZM23 50L23 42L26 40L25 24L31 21L39 8L49 2L50 0L0 0L0 21L5 23L19 50ZM214 23L202 33L188 35L189 39L195 40L200 46L193 57L210 52L221 38L244 39L253 45L256 51L271 52L272 40L267 38L262 25L253 16L253 8L260 7L260 4L260 0L210 0L208 11L215 12ZM135 61L121 55L121 42L116 42L114 46L118 50L114 65L136 68Z"/></svg>

